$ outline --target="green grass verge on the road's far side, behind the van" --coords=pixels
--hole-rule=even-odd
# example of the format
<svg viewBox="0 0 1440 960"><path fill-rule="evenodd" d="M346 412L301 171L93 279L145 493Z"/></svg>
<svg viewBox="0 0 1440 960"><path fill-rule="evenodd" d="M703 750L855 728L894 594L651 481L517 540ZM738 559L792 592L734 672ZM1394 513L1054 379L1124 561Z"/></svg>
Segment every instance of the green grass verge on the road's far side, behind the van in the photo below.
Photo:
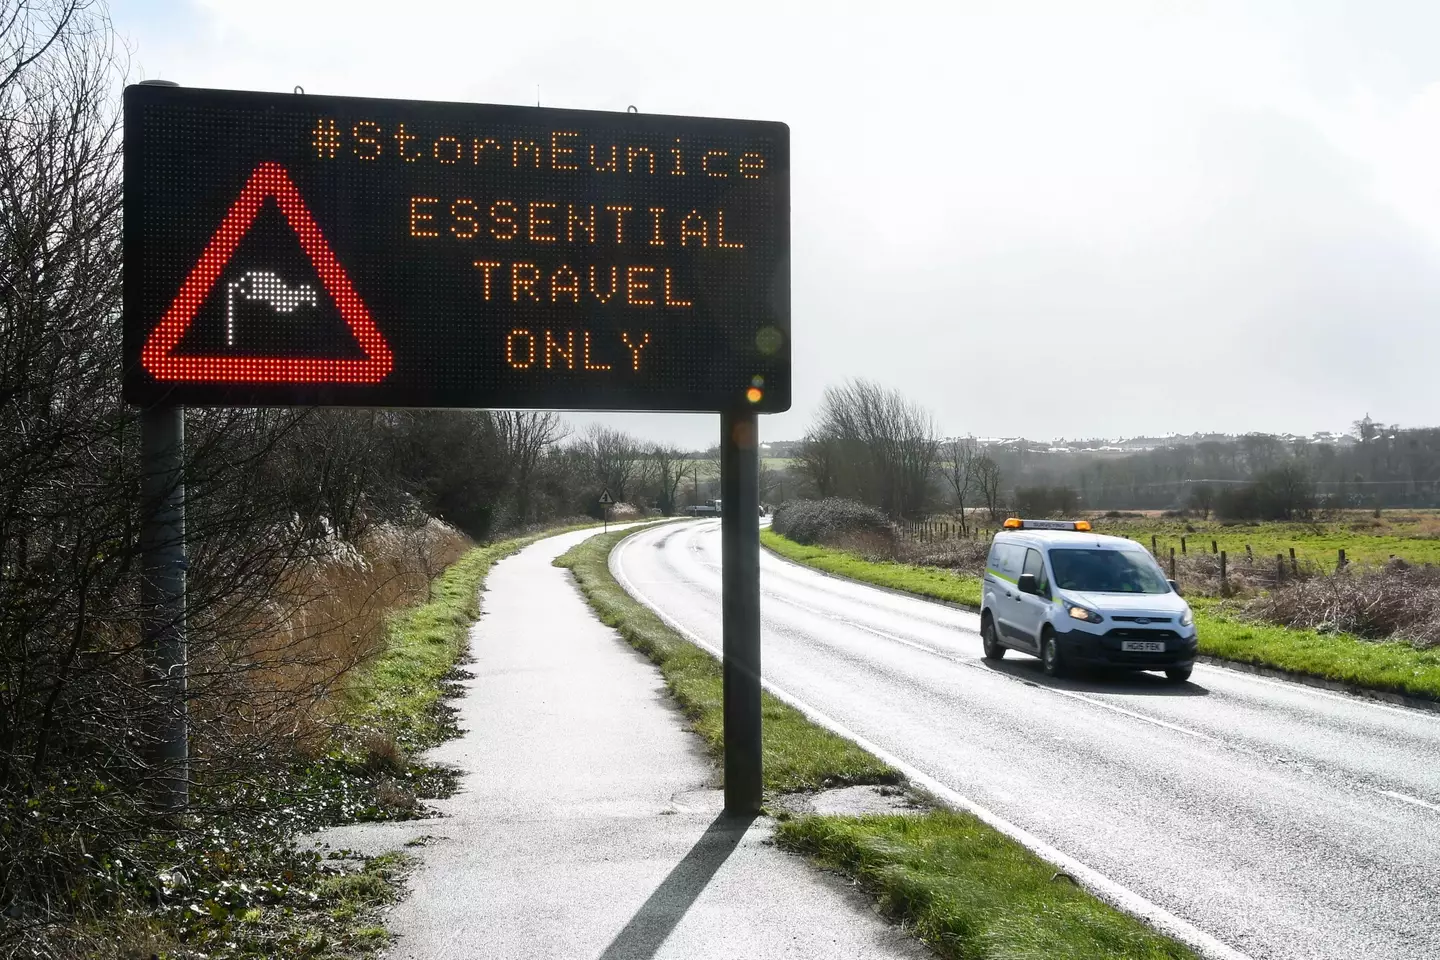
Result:
<svg viewBox="0 0 1440 960"><path fill-rule="evenodd" d="M979 609L981 580L971 574L873 563L844 550L805 547L770 530L760 533L760 541L786 560L825 573ZM1408 643L1254 623L1205 597L1192 597L1189 604L1205 656L1440 701L1440 649L1417 651Z"/></svg>

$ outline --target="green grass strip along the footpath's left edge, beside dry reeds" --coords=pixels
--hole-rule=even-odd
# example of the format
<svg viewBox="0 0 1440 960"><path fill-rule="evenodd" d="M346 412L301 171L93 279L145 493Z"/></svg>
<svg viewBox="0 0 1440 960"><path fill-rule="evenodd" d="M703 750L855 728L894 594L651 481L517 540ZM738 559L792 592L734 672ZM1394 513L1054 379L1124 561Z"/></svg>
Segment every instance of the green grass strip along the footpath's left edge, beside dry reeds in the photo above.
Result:
<svg viewBox="0 0 1440 960"><path fill-rule="evenodd" d="M412 750L438 743L444 735L436 710L442 682L465 652L490 569L537 540L589 525L503 540L461 557L431 586L429 602L390 620L386 651L346 689L346 723L383 730Z"/></svg>

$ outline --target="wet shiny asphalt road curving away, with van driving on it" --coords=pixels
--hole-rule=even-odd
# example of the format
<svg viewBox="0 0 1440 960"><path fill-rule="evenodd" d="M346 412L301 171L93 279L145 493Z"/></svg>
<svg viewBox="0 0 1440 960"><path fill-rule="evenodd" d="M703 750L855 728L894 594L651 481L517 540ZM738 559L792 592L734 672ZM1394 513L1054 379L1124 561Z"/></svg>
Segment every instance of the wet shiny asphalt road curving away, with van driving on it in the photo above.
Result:
<svg viewBox="0 0 1440 960"><path fill-rule="evenodd" d="M720 646L720 524L611 567ZM1197 665L1051 681L973 613L763 554L786 694L1251 957L1440 957L1440 714Z"/></svg>

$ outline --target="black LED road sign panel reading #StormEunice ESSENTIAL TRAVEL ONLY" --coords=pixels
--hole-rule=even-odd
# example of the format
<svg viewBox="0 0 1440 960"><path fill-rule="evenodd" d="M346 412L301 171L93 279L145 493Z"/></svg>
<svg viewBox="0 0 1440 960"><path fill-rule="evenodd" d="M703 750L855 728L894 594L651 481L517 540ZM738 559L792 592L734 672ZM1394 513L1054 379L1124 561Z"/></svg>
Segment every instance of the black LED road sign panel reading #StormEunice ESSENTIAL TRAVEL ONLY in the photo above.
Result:
<svg viewBox="0 0 1440 960"><path fill-rule="evenodd" d="M779 122L137 85L137 404L791 406Z"/></svg>

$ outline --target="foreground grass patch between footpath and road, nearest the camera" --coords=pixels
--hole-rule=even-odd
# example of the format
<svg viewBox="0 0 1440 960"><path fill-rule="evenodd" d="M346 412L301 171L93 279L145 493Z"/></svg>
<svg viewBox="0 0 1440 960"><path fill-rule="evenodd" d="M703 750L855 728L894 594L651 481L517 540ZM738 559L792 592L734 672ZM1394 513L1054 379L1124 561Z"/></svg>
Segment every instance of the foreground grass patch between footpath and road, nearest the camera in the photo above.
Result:
<svg viewBox="0 0 1440 960"><path fill-rule="evenodd" d="M881 910L955 960L1195 954L1096 900L966 813L805 816L779 842L855 878Z"/></svg>

